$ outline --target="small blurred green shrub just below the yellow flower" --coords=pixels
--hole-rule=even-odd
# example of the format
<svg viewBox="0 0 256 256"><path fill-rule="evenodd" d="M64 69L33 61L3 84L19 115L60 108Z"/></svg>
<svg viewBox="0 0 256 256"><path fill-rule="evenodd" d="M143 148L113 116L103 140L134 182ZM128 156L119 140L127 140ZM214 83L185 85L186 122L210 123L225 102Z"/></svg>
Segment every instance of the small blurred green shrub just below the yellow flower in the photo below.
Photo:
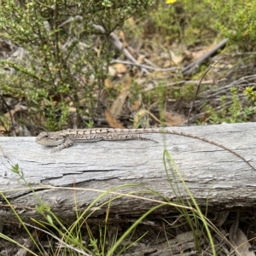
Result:
<svg viewBox="0 0 256 256"><path fill-rule="evenodd" d="M198 39L206 40L211 31L213 35L214 15L203 1L181 0L166 4L159 1L157 9L150 13L153 27L172 43L194 44ZM206 37L207 33L207 37Z"/></svg>

